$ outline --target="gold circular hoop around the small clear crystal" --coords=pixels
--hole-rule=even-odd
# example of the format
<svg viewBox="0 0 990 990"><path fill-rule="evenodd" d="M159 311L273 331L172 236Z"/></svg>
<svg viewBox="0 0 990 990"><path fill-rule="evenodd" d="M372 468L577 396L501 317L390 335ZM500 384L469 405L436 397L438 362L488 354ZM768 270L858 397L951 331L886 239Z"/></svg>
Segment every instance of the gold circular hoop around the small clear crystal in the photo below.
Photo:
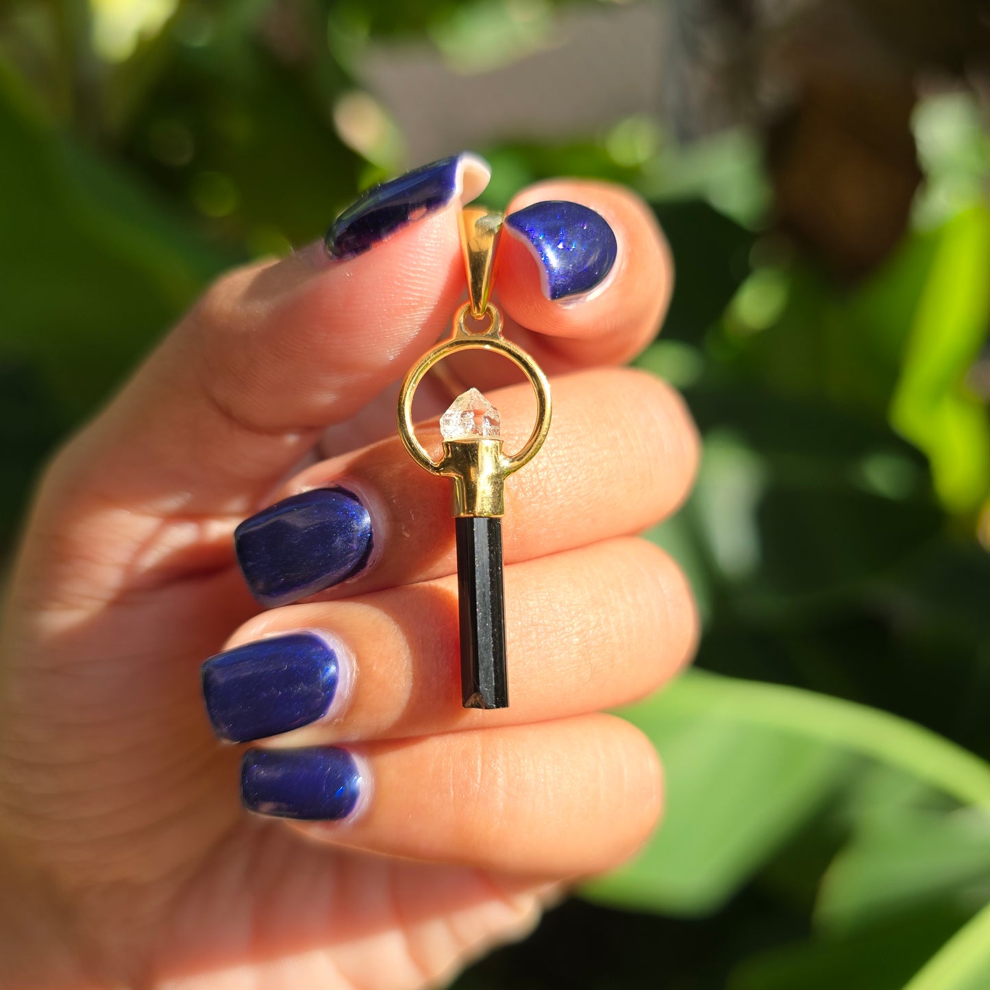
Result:
<svg viewBox="0 0 990 990"><path fill-rule="evenodd" d="M449 341L444 341L437 347L428 350L409 369L409 373L403 379L402 388L399 390L399 437L410 456L421 467L432 474L441 474L441 465L433 460L426 448L416 439L413 428L413 398L416 395L416 388L426 373L445 357L449 357L450 354L459 350L491 350L508 357L520 368L529 379L537 397L537 422L529 440L518 453L510 454L505 458L505 474L512 474L513 471L518 471L536 456L537 451L546 440L547 433L549 433L550 384L537 362L522 347L517 347L511 341L503 340L502 316L491 303L485 307L485 314L491 318L491 325L487 330L477 334L468 331L464 324L469 309L469 304L465 303L457 310L453 322L453 337Z"/></svg>

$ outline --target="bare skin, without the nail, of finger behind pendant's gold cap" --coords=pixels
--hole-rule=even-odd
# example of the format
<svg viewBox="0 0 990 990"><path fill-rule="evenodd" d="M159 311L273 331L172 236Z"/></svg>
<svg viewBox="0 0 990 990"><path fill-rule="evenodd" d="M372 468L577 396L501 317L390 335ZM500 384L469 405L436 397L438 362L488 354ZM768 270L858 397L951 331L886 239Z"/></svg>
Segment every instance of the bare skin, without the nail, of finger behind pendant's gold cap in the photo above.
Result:
<svg viewBox="0 0 990 990"><path fill-rule="evenodd" d="M510 563L642 532L680 505L697 466L690 415L652 375L604 368L555 379L551 387L546 443L506 484L503 540ZM505 448L518 449L534 416L529 386L489 398L502 412ZM428 439L439 437L436 424L417 433L428 449ZM321 597L454 572L450 482L424 471L398 440L316 464L277 497L334 485L356 492L371 511L377 557Z"/></svg>

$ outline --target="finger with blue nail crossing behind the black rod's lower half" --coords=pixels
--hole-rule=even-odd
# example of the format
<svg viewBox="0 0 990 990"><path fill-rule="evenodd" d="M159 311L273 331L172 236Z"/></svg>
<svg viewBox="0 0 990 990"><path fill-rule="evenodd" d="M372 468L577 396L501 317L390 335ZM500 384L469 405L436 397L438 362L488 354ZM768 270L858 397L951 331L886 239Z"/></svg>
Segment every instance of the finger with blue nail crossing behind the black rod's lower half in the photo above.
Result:
<svg viewBox="0 0 990 990"><path fill-rule="evenodd" d="M558 719L643 697L697 639L684 576L642 540L516 564L505 590L509 708L461 707L447 577L251 620L203 665L214 731L300 746Z"/></svg>

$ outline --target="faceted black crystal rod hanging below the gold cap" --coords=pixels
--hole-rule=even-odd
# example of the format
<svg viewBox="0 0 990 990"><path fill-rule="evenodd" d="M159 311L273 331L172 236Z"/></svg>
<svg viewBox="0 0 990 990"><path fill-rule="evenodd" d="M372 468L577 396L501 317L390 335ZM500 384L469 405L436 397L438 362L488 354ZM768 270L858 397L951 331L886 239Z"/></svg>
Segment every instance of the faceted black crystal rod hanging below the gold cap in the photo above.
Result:
<svg viewBox="0 0 990 990"><path fill-rule="evenodd" d="M461 516L454 525L464 708L508 708L502 520Z"/></svg>

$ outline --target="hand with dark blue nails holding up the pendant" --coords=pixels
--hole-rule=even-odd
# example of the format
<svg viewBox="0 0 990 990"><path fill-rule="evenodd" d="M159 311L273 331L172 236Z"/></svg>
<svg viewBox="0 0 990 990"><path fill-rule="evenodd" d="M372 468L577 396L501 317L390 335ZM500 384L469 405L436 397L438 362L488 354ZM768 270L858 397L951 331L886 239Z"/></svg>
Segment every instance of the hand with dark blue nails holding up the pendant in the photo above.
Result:
<svg viewBox="0 0 990 990"><path fill-rule="evenodd" d="M512 705L465 711L448 485L395 439L394 401L462 296L458 196L487 175L470 156L418 174L342 217L339 256L222 278L49 467L0 653L4 988L424 986L653 828L656 756L596 712L696 637L683 577L631 536L684 497L695 433L613 366L655 333L666 249L608 185L510 207L590 210L555 261L552 210L503 235L497 302L554 412L507 489ZM521 446L529 387L491 356L456 370ZM267 815L204 708L221 649L213 727L265 740L245 798Z"/></svg>

